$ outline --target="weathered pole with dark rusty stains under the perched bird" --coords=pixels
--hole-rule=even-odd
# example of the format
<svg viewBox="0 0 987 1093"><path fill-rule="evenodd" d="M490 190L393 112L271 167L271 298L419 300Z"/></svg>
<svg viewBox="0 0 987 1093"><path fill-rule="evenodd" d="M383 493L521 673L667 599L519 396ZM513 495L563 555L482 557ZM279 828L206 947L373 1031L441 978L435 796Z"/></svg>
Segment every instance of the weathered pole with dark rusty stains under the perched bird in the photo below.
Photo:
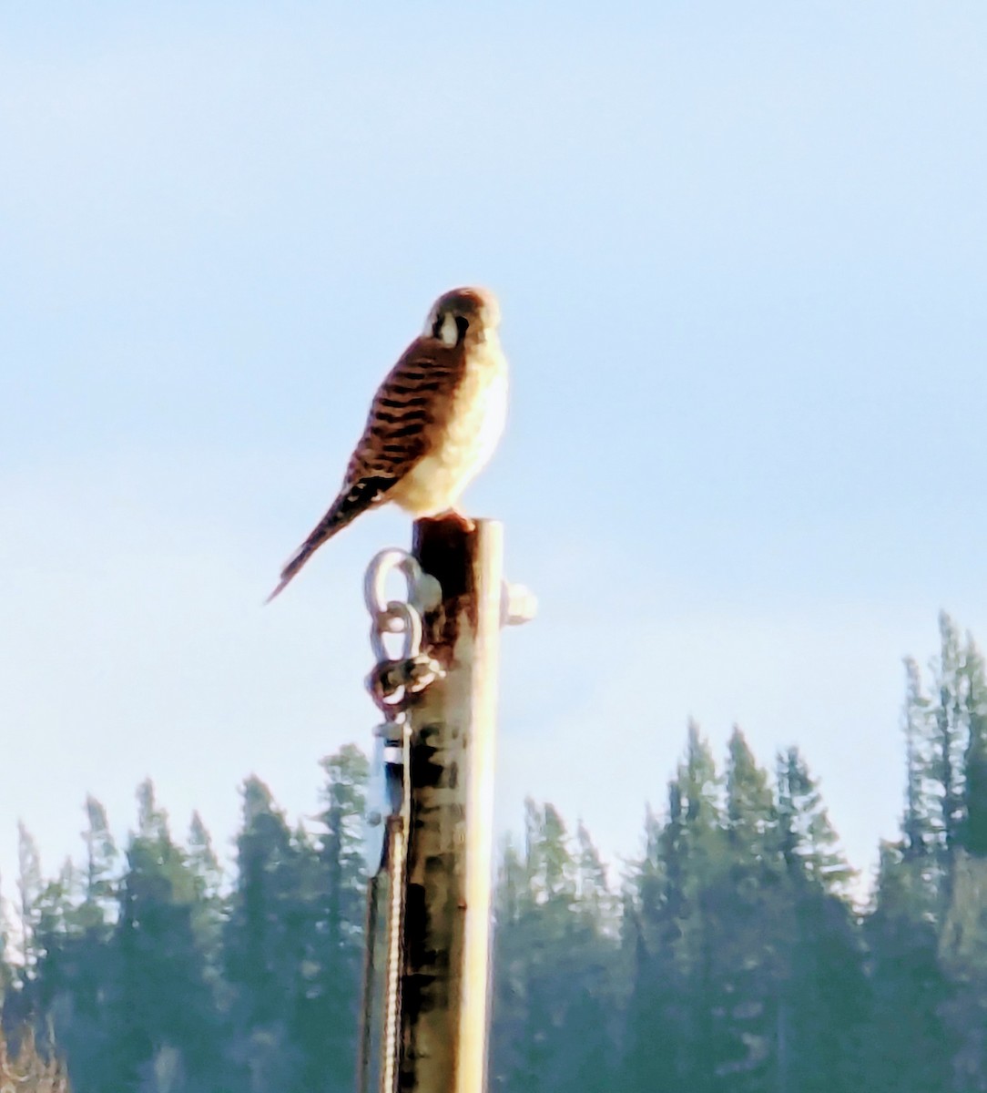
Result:
<svg viewBox="0 0 987 1093"><path fill-rule="evenodd" d="M423 650L446 670L411 708L411 830L398 1088L482 1093L501 631L501 525L419 520L415 557L443 601Z"/></svg>

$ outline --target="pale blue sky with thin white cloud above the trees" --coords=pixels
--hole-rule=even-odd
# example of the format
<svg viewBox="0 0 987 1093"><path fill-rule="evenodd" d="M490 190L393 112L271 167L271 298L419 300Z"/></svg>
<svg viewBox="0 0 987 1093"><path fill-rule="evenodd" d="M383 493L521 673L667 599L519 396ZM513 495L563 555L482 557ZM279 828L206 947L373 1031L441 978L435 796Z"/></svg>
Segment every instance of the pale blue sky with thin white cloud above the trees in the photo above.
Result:
<svg viewBox="0 0 987 1093"><path fill-rule="evenodd" d="M466 506L525 794L632 855L698 719L798 742L867 870L901 658L987 635L987 9L0 9L0 873L150 774L221 848L369 740L359 521L275 604L367 400L490 285L510 424ZM985 638L987 639L987 638Z"/></svg>

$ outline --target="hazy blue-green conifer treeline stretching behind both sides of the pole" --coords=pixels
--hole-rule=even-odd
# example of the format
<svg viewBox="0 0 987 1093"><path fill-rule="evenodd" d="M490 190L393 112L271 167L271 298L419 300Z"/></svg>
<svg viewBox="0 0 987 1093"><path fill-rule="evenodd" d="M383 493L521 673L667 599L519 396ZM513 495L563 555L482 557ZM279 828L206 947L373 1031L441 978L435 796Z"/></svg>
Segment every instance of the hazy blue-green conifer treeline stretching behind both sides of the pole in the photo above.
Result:
<svg viewBox="0 0 987 1093"><path fill-rule="evenodd" d="M927 684L907 663L902 827L866 908L796 748L769 773L735 730L720 771L690 726L616 879L585 828L529 802L496 891L492 1090L987 1090L987 684L944 615L940 639ZM57 878L22 828L12 1051L25 1029L54 1044L75 1093L349 1093L367 765L348 747L322 766L305 827L247 780L225 880L150 783L122 855L92 799Z"/></svg>

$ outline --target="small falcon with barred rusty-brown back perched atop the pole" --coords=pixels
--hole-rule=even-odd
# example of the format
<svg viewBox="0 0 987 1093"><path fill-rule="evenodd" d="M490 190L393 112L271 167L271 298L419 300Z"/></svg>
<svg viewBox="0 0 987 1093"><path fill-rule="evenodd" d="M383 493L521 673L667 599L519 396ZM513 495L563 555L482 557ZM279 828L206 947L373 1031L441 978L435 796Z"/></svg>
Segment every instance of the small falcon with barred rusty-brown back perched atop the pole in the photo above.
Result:
<svg viewBox="0 0 987 1093"><path fill-rule="evenodd" d="M285 565L269 602L366 509L388 501L414 517L453 508L504 431L507 361L500 320L496 298L484 289L438 297L424 332L378 388L336 501Z"/></svg>

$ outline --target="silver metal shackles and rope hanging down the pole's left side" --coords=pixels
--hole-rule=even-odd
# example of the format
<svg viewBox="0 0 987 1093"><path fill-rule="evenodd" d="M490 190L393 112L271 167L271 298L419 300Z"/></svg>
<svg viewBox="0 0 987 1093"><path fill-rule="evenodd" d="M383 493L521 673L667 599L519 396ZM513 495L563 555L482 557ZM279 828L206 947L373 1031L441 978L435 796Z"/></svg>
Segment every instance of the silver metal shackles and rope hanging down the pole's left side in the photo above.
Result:
<svg viewBox="0 0 987 1093"><path fill-rule="evenodd" d="M404 578L403 600L387 599L387 580L392 573ZM385 935L386 966L380 1029L380 1093L396 1093L401 1003L403 950L401 939L404 919L404 882L408 858L408 831L411 806L411 726L408 707L414 696L445 672L442 666L422 651L422 614L438 607L442 589L434 577L422 572L415 557L401 550L385 550L367 566L363 598L371 615L371 648L376 665L366 678L371 697L387 719L376 729L383 742L383 777L385 779L386 815L384 823L384 861L388 873L387 925ZM391 655L388 642L399 639ZM376 847L374 847L376 851ZM377 865L377 863L375 863ZM373 868L373 867L372 867ZM378 865L379 869L379 865ZM367 890L367 936L364 965L364 999L361 1032L359 1082L367 1090L371 1056L371 1023L374 1010L374 951L377 940L377 904L380 885L378 875L371 878Z"/></svg>

